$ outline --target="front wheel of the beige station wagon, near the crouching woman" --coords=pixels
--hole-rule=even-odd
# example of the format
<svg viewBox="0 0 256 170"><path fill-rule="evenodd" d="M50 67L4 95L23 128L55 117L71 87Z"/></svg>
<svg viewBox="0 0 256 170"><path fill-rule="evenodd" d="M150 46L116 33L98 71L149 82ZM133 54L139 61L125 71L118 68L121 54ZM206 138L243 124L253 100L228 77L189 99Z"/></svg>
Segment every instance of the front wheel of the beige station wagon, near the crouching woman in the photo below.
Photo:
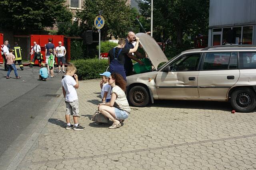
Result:
<svg viewBox="0 0 256 170"><path fill-rule="evenodd" d="M128 102L135 107L145 107L149 104L149 92L143 86L134 86L129 90Z"/></svg>

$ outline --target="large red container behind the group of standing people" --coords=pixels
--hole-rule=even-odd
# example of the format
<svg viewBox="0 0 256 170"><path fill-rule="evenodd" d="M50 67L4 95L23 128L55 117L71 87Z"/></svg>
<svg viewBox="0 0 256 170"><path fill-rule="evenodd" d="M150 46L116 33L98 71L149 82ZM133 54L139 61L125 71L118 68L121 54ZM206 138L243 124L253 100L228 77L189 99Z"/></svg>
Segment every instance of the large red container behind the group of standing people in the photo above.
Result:
<svg viewBox="0 0 256 170"><path fill-rule="evenodd" d="M44 56L44 61L45 63L45 45L48 43L48 39L52 39L52 43L54 44L55 48L59 46L58 42L62 42L62 46L65 46L64 44L64 36L63 35L31 35L30 37L30 52L32 47L34 46L34 41L36 41L37 45L40 45L41 47L41 53ZM34 55L30 56L30 60L34 58ZM55 58L56 63L57 58ZM38 60L35 61L35 64L38 64Z"/></svg>

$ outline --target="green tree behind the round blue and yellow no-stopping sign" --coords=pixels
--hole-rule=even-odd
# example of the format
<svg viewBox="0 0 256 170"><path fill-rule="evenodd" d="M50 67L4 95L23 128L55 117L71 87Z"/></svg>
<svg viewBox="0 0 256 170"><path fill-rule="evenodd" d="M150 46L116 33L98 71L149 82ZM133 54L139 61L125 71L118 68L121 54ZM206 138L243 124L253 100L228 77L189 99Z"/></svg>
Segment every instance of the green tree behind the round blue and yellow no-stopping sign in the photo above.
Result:
<svg viewBox="0 0 256 170"><path fill-rule="evenodd" d="M82 20L83 31L94 30L94 19L102 11L105 19L104 27L101 29L102 40L114 37L125 37L128 30L135 24L136 13L130 6L126 5L127 0L86 0L84 10L78 12L77 16ZM138 12L137 12L138 14Z"/></svg>

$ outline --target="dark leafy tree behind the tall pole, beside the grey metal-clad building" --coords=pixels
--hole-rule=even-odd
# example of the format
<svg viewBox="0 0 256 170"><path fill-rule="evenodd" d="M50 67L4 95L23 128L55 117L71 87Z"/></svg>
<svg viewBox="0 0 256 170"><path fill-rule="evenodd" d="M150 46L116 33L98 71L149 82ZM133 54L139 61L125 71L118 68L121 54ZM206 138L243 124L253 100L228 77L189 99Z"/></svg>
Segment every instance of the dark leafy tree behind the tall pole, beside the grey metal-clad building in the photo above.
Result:
<svg viewBox="0 0 256 170"><path fill-rule="evenodd" d="M153 28L157 39L176 39L181 47L186 36L207 34L209 0L154 0ZM150 23L151 0L139 2L140 12Z"/></svg>

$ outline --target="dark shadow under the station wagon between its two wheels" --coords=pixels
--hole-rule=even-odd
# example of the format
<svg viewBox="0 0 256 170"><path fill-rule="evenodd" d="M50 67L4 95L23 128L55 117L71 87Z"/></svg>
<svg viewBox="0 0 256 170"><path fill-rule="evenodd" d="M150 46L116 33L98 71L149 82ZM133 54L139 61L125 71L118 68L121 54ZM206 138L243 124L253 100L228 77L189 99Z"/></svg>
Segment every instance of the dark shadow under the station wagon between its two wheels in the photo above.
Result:
<svg viewBox="0 0 256 170"><path fill-rule="evenodd" d="M207 102L207 101L184 101L184 100L155 100L154 104L148 107L169 107L183 109L211 109L231 111L232 107L229 102Z"/></svg>

